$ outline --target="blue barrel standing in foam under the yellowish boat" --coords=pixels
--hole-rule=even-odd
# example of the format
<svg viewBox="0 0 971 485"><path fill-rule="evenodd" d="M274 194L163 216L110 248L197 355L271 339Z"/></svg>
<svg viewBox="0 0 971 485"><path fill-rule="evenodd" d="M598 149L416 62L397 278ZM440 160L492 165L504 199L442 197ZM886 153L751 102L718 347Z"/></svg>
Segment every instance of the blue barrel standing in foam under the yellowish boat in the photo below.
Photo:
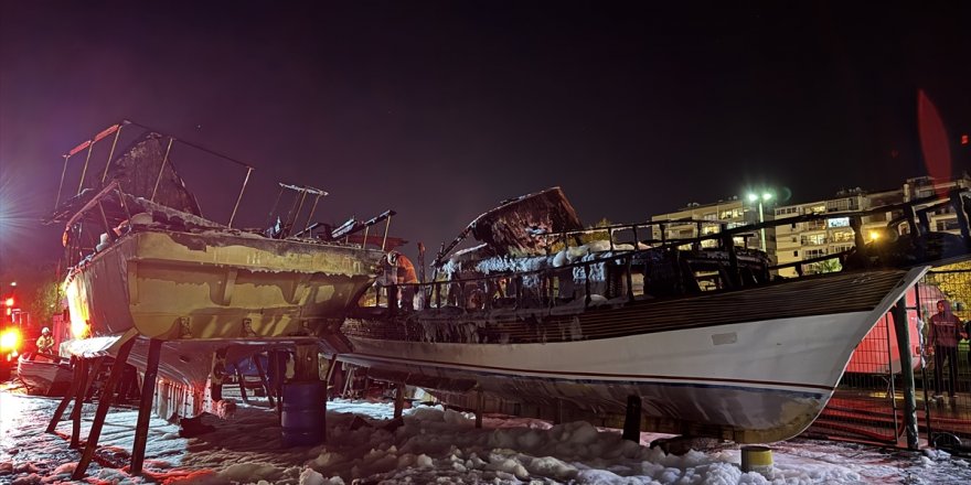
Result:
<svg viewBox="0 0 971 485"><path fill-rule="evenodd" d="M280 417L284 446L310 446L323 442L326 406L326 382L285 384Z"/></svg>

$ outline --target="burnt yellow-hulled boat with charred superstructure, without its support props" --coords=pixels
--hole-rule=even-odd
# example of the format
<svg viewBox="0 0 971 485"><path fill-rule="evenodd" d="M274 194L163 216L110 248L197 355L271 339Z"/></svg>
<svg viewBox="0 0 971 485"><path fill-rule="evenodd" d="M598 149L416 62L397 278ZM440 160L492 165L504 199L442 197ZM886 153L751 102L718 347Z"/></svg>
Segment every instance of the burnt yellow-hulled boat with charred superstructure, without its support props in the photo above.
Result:
<svg viewBox="0 0 971 485"><path fill-rule="evenodd" d="M136 134L115 157L122 129ZM113 142L104 171L95 173L88 162L100 140ZM75 154L84 153L85 164L78 193L63 203L58 194L52 217L64 225L70 266L64 291L75 340L65 351L115 357L128 344L127 362L145 371L153 367L149 343L158 342L160 377L188 396L171 406L190 416L205 409L202 396L217 360L296 346L316 356L384 255L312 222L327 193L308 186L279 184L294 205L268 229L234 227L254 169L233 159L226 160L242 165L245 180L230 222L204 217L174 166L193 150L213 154L131 121L109 127L64 155L65 173ZM392 214L358 226L390 222ZM164 399L157 401L164 408Z"/></svg>

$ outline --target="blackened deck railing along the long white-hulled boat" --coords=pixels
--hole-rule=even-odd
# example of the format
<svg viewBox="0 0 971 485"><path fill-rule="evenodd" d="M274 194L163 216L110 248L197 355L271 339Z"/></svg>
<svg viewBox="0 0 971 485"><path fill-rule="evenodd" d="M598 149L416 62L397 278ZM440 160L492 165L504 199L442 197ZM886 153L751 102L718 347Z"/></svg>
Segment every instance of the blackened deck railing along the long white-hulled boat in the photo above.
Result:
<svg viewBox="0 0 971 485"><path fill-rule="evenodd" d="M836 259L846 262L851 255L861 265L866 266L869 259L863 235L864 217L876 214L895 214L886 224L886 230L898 237L909 237L916 246L922 236L932 233L929 214L952 209L958 217L961 238L967 247L965 255L971 254L971 233L969 218L971 214L971 191L967 188L951 191L946 197L925 197L908 203L900 203L866 211L834 212L826 214L808 214L785 219L769 220L759 224L729 227L725 222L712 220L664 220L641 224L620 224L583 230L572 230L542 235L552 241L548 255L554 250L567 250L570 241L580 241L584 236L606 235L608 251L595 254L586 258L554 268L532 271L499 272L492 274L461 274L450 280L425 283L399 283L378 285L374 293L373 306L387 308L392 312L439 310L459 308L470 310L492 310L498 308L524 309L573 305L583 309L602 301L630 302L651 298L648 291L651 263L663 255L668 258L671 271L671 291L691 293L705 290L732 290L768 282L770 272L785 268L794 268L799 277L810 265ZM822 255L783 265L770 265L765 252L737 245L737 237L749 237L762 228L777 227L805 222L847 218L854 231L853 246L835 254ZM663 235L666 225L694 224L700 231L705 225L716 225L718 231L703 234L692 238L639 238L660 227ZM905 230L906 229L906 230ZM629 233L633 239L618 239L616 235ZM707 242L711 241L711 242ZM721 251L721 257L698 257L700 252ZM547 256L548 256L547 255ZM609 268L610 274L607 274ZM595 277L595 274L597 274ZM578 291L579 290L579 291ZM382 301L384 294L384 301ZM395 302L388 304L388 302ZM369 305L371 306L371 305Z"/></svg>

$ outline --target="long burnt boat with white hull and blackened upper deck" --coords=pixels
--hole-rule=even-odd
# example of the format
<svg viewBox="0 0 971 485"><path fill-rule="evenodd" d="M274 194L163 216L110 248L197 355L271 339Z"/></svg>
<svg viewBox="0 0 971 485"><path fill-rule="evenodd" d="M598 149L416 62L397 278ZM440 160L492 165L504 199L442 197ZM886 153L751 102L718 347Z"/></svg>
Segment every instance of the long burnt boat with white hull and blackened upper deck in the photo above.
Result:
<svg viewBox="0 0 971 485"><path fill-rule="evenodd" d="M602 419L633 400L648 429L785 440L815 419L856 345L928 265L967 258L971 198L951 195L879 208L908 214L889 230L906 223L913 237L829 256L843 271L780 279L736 241L793 219L665 240L665 223L581 229L547 190L473 220L439 254L434 282L363 299L376 303L343 325L337 358L458 405ZM963 236L919 226L941 204L965 215ZM450 255L468 235L481 244Z"/></svg>

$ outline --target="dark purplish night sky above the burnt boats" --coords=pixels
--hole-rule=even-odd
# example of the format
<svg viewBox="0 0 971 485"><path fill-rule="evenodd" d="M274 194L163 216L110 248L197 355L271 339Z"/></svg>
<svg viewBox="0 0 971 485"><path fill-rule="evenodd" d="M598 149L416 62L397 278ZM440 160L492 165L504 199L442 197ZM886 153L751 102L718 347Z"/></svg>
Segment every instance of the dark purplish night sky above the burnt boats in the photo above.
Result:
<svg viewBox="0 0 971 485"><path fill-rule="evenodd" d="M585 223L749 186L790 202L927 173L917 89L967 170L971 3L0 3L0 273L56 260L61 154L124 118L331 193L319 219L398 212L434 252L497 202L563 186ZM920 4L918 4L920 3ZM225 220L243 173L179 165ZM198 175L198 174L196 174ZM224 182L225 188L214 188ZM209 204L209 205L207 205Z"/></svg>

